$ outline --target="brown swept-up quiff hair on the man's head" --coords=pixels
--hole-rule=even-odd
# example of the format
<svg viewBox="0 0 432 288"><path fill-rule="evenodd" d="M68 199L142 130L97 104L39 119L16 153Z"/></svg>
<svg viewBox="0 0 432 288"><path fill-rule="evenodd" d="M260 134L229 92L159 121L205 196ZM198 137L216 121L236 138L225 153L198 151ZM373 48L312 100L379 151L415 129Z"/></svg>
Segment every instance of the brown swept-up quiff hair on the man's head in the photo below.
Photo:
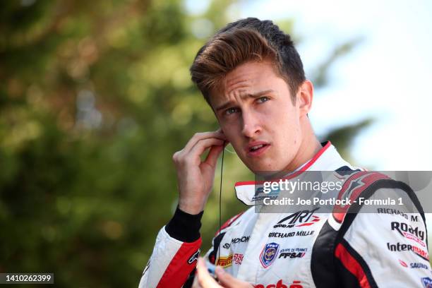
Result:
<svg viewBox="0 0 432 288"><path fill-rule="evenodd" d="M306 80L303 64L291 37L271 20L245 18L219 30L196 54L192 81L210 104L210 94L220 91L227 73L247 61L265 60L285 80L295 104L296 92Z"/></svg>

